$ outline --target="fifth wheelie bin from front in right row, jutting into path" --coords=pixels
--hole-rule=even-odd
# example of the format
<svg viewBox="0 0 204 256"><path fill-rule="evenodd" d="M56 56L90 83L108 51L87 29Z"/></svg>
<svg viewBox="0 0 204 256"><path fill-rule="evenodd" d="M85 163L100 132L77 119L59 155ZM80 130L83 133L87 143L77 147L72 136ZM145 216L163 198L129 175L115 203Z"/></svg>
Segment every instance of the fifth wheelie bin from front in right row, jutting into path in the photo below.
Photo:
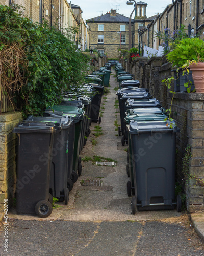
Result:
<svg viewBox="0 0 204 256"><path fill-rule="evenodd" d="M124 117L125 117L125 112L126 112L126 101L127 99L134 99L137 101L145 101L152 98L152 95L144 89L142 91L136 91L136 92L130 92L130 93L124 93L122 97L119 99L119 107L120 107L120 129L121 133L124 133L125 125L124 125ZM120 136L120 131L118 130L118 134Z"/></svg>

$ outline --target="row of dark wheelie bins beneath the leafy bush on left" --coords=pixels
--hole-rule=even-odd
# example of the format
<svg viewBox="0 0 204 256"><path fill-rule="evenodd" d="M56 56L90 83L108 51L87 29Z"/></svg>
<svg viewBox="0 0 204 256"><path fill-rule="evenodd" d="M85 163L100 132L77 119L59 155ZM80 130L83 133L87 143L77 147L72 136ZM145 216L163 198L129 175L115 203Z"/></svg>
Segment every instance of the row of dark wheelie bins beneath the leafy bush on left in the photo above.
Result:
<svg viewBox="0 0 204 256"><path fill-rule="evenodd" d="M91 122L101 122L102 79L87 77L83 86L63 92L61 103L45 109L43 116L30 115L15 126L17 214L48 217L53 197L68 204L69 192L82 173L80 152L91 132Z"/></svg>

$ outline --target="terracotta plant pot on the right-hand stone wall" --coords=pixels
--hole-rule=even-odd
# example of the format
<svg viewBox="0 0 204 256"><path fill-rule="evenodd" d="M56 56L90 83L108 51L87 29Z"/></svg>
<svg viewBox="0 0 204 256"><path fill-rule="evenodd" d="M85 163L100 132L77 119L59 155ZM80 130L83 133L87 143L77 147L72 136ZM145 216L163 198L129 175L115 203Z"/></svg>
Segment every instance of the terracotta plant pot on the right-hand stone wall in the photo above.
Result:
<svg viewBox="0 0 204 256"><path fill-rule="evenodd" d="M196 93L204 93L204 63L192 63L189 66Z"/></svg>

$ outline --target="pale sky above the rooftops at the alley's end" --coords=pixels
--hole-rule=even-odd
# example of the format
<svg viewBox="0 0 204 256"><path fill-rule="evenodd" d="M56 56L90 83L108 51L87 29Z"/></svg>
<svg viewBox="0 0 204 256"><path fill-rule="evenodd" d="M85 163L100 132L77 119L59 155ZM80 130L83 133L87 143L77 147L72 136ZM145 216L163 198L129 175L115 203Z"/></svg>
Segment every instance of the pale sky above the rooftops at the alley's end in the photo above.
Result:
<svg viewBox="0 0 204 256"><path fill-rule="evenodd" d="M130 14L134 8L134 5L127 5L127 0L72 0L71 3L79 5L83 11L83 19L90 19L103 14L106 14L111 9L119 9L117 13L124 14L126 17L130 17ZM136 1L139 2L139 1ZM158 12L162 13L168 4L172 4L172 0L145 0L147 3L146 15L151 17ZM134 15L132 16L132 18Z"/></svg>

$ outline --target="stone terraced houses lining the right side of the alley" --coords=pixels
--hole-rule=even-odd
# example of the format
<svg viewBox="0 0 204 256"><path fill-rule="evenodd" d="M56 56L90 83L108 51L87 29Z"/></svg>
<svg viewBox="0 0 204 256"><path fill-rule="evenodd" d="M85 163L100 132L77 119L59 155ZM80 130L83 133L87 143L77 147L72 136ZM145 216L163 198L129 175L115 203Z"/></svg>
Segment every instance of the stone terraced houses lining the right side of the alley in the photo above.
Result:
<svg viewBox="0 0 204 256"><path fill-rule="evenodd" d="M141 27L140 34L143 46L149 46L158 49L161 41L155 37L155 31L164 32L165 28L170 31L176 31L181 24L185 26L186 34L195 36L199 34L203 39L204 35L204 2L203 0L173 0L173 4L167 5L161 14L158 14L153 22L149 23L145 28ZM153 37L148 42L147 34L151 31Z"/></svg>

